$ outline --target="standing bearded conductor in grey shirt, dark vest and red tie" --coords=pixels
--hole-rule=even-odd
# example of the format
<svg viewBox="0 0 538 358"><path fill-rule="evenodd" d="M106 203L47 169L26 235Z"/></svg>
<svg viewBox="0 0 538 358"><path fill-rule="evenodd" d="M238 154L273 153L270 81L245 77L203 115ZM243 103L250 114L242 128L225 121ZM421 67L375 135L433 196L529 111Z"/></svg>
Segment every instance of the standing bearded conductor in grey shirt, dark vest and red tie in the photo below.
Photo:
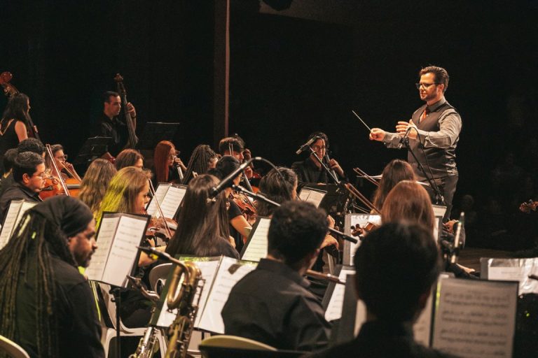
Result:
<svg viewBox="0 0 538 358"><path fill-rule="evenodd" d="M415 110L409 122L396 124L396 133L389 133L380 128L373 128L370 133L372 141L380 141L387 148L399 148L403 136L409 138L410 150L427 171L429 178L435 179L444 196L447 206L443 221L450 218L452 199L456 191L457 167L456 146L462 130L462 118L456 109L445 99L448 87L448 72L438 66L428 66L419 72L420 82L416 83L420 99L425 105ZM426 181L418 163L408 153L408 162L418 180ZM429 171L431 169L431 173Z"/></svg>

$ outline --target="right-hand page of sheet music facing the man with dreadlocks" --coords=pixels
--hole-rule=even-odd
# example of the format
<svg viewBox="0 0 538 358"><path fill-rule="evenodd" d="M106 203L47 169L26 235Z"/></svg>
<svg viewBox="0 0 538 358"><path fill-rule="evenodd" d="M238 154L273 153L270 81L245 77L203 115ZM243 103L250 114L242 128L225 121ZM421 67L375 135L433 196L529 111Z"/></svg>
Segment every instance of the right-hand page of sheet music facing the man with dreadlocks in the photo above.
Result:
<svg viewBox="0 0 538 358"><path fill-rule="evenodd" d="M109 259L103 273L102 281L122 287L132 265L135 263L138 249L148 219L146 217L131 217L123 214L118 222L116 236L110 250Z"/></svg>

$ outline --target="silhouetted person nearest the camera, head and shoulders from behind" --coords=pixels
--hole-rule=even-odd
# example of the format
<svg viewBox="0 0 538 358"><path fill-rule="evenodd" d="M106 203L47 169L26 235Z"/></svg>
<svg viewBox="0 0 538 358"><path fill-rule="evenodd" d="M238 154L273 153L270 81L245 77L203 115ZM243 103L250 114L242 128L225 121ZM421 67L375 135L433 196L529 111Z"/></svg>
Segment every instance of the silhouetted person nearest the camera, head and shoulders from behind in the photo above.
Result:
<svg viewBox="0 0 538 358"><path fill-rule="evenodd" d="M353 341L308 357L453 357L413 338L413 323L441 272L431 230L418 224L384 224L364 238L354 266L355 292L366 304L366 322Z"/></svg>

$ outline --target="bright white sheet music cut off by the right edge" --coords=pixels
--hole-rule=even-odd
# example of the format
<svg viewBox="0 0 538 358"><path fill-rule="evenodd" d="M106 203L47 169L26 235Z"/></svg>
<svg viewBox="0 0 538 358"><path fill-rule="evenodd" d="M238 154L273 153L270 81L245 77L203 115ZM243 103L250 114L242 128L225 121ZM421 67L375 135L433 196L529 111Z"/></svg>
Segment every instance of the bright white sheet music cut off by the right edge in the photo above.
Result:
<svg viewBox="0 0 538 358"><path fill-rule="evenodd" d="M538 258L488 259L488 280L518 281L519 294L538 294L538 280L529 275L538 275Z"/></svg>

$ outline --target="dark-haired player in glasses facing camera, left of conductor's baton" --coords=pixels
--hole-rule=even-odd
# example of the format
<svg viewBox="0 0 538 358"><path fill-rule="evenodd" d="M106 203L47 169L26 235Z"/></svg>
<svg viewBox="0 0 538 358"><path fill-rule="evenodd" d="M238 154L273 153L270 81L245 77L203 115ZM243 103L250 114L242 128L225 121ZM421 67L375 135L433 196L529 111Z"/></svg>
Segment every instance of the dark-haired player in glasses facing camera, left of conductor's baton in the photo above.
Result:
<svg viewBox="0 0 538 358"><path fill-rule="evenodd" d="M291 164L291 169L297 174L299 185L307 182L316 184L327 184L331 182L331 178L316 157L322 159L329 169L335 171L336 175L340 178L344 178L344 171L340 164L338 164L334 158L329 159L327 155L327 150L329 149L329 137L323 132L317 132L310 135L308 138L315 138L315 141L310 145L310 148L312 148L314 152L303 162L295 162L294 164ZM307 152L310 152L310 150Z"/></svg>

